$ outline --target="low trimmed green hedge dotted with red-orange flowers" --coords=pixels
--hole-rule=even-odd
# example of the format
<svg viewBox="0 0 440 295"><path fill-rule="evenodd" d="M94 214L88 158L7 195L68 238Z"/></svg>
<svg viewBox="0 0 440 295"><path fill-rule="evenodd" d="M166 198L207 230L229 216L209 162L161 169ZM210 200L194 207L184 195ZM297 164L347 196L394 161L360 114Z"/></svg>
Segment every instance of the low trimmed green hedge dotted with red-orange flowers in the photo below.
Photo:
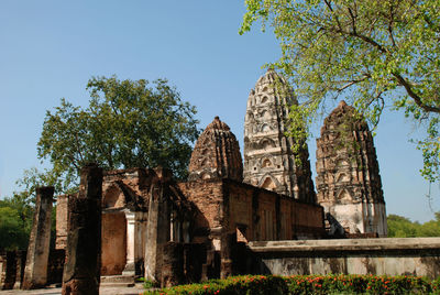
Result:
<svg viewBox="0 0 440 295"><path fill-rule="evenodd" d="M440 294L439 287L440 278L431 281L411 275L240 275L145 294Z"/></svg>

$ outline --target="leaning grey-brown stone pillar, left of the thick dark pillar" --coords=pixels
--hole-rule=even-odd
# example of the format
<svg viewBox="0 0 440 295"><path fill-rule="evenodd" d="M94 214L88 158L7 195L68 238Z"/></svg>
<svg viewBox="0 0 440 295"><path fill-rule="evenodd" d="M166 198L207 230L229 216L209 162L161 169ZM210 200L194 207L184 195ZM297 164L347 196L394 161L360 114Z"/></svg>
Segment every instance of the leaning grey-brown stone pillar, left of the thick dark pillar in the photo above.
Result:
<svg viewBox="0 0 440 295"><path fill-rule="evenodd" d="M44 287L51 243L51 214L54 187L37 187L34 219L29 239L23 289Z"/></svg>

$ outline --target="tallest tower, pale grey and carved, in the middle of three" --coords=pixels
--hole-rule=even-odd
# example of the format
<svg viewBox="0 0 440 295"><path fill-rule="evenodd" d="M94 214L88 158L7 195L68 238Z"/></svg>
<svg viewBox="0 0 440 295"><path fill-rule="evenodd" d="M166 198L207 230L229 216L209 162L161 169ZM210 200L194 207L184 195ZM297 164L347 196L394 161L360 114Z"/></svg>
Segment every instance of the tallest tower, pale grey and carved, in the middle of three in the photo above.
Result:
<svg viewBox="0 0 440 295"><path fill-rule="evenodd" d="M285 135L292 103L296 103L292 90L272 69L251 90L244 119L244 182L315 203L308 151L301 152L297 166L293 140Z"/></svg>

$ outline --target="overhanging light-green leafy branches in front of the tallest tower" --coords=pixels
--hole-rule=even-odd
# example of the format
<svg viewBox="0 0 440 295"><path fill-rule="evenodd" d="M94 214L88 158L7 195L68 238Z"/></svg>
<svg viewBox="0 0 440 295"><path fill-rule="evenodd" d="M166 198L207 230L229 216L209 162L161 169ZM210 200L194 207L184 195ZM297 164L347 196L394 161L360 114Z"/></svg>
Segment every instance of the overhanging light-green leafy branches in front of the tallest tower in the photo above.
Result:
<svg viewBox="0 0 440 295"><path fill-rule="evenodd" d="M295 88L290 134L328 99L345 96L373 127L385 106L426 128L421 174L440 179L440 4L438 0L246 0L240 33L268 23L283 55L270 65ZM305 132L298 132L306 128Z"/></svg>

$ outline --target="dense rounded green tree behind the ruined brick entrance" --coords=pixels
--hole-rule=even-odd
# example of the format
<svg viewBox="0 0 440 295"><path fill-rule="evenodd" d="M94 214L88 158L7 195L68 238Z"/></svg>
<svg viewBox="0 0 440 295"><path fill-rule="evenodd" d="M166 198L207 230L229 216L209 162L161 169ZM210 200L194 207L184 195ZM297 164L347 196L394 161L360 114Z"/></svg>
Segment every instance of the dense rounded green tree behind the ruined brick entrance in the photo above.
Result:
<svg viewBox="0 0 440 295"><path fill-rule="evenodd" d="M38 157L48 159L47 178L66 190L89 162L114 170L163 166L184 177L198 138L195 107L183 102L167 80L91 78L87 108L66 99L47 111L37 143Z"/></svg>

